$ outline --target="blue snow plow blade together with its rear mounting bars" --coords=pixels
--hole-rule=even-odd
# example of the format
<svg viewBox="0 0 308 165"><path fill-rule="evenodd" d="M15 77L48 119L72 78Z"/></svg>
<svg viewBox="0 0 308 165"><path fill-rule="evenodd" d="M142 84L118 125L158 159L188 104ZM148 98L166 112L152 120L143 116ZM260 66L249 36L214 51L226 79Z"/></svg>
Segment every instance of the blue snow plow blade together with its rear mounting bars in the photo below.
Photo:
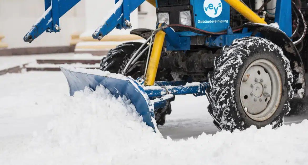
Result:
<svg viewBox="0 0 308 165"><path fill-rule="evenodd" d="M185 84L185 82L172 82L183 84L183 86L154 86L145 87L143 81L136 81L130 77L112 74L108 71L73 68L68 65L60 67L70 88L70 95L75 91L82 91L86 87L95 91L97 86L103 85L116 98L126 97L131 100L136 111L142 116L144 123L155 131L154 110L166 106L169 99L174 95L195 94L209 87L207 82ZM157 82L156 85L163 85L170 82ZM150 99L156 98L156 99Z"/></svg>

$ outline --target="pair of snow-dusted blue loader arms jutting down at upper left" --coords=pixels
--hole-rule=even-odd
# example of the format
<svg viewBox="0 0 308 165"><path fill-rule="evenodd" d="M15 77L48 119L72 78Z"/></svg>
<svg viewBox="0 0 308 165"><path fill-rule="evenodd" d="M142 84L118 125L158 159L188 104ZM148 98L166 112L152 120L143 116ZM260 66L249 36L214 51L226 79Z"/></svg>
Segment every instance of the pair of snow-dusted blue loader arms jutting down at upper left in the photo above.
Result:
<svg viewBox="0 0 308 165"><path fill-rule="evenodd" d="M59 32L59 18L75 6L80 0L45 0L45 12L24 36L25 42L31 43L44 31ZM115 8L104 19L103 23L93 33L94 39L102 39L115 27L118 29L131 28L130 13L145 0L115 0ZM52 2L52 3L51 3Z"/></svg>

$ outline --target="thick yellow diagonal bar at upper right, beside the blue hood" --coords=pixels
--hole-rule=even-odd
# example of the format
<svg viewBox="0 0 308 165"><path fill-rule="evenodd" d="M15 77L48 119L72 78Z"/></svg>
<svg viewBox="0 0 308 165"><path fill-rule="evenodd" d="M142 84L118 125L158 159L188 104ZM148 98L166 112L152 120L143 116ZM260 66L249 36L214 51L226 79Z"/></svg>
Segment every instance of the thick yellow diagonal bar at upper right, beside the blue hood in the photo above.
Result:
<svg viewBox="0 0 308 165"><path fill-rule="evenodd" d="M260 18L255 12L249 9L246 5L244 5L239 0L225 0L230 6L232 6L236 11L241 13L245 18L247 18L250 22L254 23L265 23L262 18Z"/></svg>

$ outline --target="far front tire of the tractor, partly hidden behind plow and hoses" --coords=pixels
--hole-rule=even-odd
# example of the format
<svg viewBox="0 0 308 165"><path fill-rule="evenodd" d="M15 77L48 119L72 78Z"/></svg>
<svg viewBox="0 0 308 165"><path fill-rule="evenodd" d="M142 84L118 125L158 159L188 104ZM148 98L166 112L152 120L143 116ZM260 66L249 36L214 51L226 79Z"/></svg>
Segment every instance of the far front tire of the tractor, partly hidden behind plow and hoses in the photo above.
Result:
<svg viewBox="0 0 308 165"><path fill-rule="evenodd" d="M127 42L109 50L107 56L101 59L100 70L107 70L111 73L121 74L128 61L132 58L133 54L140 48L141 45L142 43L140 42ZM144 46L144 48L145 47L146 46ZM136 65L133 65L132 69L128 68L129 71L125 74L125 76L131 76L134 79L141 77L144 74L147 57L148 51L145 51L136 62ZM170 71L163 68L158 68L156 81L172 80L173 78L170 74ZM170 115L171 111L170 102L167 102L166 107L154 110L156 124L164 125L166 115Z"/></svg>

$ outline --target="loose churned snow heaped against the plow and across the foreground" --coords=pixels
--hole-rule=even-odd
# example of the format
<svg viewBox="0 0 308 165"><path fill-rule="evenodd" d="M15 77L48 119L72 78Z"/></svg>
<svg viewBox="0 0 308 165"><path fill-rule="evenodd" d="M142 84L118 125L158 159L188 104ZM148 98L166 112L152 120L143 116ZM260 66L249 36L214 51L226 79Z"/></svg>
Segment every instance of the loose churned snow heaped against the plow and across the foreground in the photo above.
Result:
<svg viewBox="0 0 308 165"><path fill-rule="evenodd" d="M62 111L31 143L1 146L1 165L306 164L308 121L272 130L202 134L172 141L142 123L128 100L104 87L42 105Z"/></svg>

